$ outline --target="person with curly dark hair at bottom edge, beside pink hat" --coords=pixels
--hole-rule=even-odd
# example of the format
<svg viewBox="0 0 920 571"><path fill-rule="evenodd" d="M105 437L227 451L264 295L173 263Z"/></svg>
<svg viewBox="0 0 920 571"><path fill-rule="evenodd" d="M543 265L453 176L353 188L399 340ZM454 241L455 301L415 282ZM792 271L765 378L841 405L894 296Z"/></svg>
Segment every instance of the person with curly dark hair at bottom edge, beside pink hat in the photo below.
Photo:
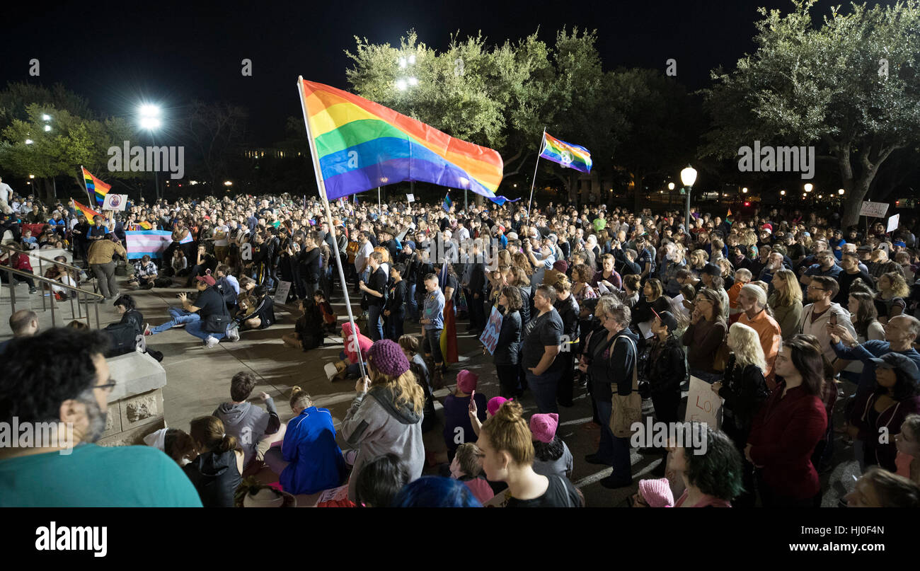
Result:
<svg viewBox="0 0 920 571"><path fill-rule="evenodd" d="M730 508L743 489L741 453L725 433L705 423L682 429L683 446L673 447L669 466L684 482L684 494L674 508Z"/></svg>

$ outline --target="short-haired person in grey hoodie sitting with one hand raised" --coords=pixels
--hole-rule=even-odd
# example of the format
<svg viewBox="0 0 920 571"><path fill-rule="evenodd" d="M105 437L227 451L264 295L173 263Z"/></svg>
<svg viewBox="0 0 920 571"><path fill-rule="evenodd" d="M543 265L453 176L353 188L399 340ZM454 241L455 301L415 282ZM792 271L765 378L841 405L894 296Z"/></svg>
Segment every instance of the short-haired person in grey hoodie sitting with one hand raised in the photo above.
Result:
<svg viewBox="0 0 920 571"><path fill-rule="evenodd" d="M269 447L284 438L284 425L269 394L259 393L267 411L246 400L257 382L254 373L237 372L230 380L230 402L222 403L212 413L224 422L227 434L239 440L244 469L254 460L261 461Z"/></svg>

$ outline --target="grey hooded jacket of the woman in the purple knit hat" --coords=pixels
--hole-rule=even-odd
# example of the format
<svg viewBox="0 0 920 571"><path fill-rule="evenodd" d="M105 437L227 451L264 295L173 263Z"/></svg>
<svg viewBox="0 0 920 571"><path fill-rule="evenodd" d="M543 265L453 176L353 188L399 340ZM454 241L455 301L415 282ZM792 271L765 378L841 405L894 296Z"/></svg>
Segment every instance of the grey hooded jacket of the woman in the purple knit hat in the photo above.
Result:
<svg viewBox="0 0 920 571"><path fill-rule="evenodd" d="M409 403L397 404L388 386L378 384L366 394L359 394L351 403L340 431L358 449L348 485L351 501L357 501L355 486L362 466L377 456L393 452L399 456L409 482L420 477L425 463L421 416Z"/></svg>

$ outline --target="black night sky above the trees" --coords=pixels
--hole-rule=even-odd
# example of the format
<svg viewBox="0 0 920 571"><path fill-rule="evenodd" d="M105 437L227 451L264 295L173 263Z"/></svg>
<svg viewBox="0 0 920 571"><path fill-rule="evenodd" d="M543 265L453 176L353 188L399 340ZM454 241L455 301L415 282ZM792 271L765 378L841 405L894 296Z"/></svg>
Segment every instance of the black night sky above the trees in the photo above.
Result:
<svg viewBox="0 0 920 571"><path fill-rule="evenodd" d="M822 2L815 16L829 12ZM733 68L753 51L757 6L788 11L788 0L645 0L638 2L78 2L45 8L5 6L0 27L0 78L61 82L104 115L132 115L142 99L159 103L165 119L193 98L226 101L249 111L249 139L270 144L284 120L301 116L298 74L349 88L344 50L353 36L398 45L414 28L420 41L443 48L451 32L482 30L489 43L517 40L540 28L551 43L562 25L598 30L607 69L664 68L677 60L678 79L709 84L719 64ZM218 7L219 6L219 7ZM40 78L29 60L40 60ZM253 76L240 74L253 61Z"/></svg>

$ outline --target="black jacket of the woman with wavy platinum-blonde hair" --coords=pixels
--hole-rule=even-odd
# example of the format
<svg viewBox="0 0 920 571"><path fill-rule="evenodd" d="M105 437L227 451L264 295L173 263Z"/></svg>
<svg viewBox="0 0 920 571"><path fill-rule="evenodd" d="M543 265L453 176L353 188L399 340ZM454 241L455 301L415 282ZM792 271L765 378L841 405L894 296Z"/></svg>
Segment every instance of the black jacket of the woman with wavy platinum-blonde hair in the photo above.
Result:
<svg viewBox="0 0 920 571"><path fill-rule="evenodd" d="M735 356L729 357L719 396L725 399L722 430L739 447L747 444L753 417L770 395L764 380L764 371L756 365L735 367Z"/></svg>

